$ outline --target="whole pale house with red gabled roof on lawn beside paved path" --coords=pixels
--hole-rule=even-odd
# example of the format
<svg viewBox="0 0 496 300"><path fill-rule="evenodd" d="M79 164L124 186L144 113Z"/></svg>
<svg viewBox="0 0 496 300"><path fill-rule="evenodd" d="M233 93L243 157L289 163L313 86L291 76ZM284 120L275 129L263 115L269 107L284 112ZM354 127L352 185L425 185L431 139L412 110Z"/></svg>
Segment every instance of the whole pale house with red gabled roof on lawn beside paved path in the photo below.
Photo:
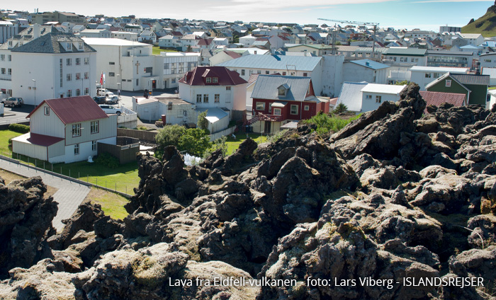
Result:
<svg viewBox="0 0 496 300"><path fill-rule="evenodd" d="M28 117L30 132L12 139L13 153L50 163L86 161L98 143L116 144L117 115L90 96L43 100Z"/></svg>

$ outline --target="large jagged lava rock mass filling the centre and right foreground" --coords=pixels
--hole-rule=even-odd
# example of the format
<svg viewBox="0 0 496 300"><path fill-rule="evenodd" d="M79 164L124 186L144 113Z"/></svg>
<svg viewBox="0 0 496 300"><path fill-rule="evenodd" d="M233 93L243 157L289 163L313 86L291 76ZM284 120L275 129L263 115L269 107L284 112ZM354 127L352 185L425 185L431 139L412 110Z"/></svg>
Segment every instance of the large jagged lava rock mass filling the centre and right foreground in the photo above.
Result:
<svg viewBox="0 0 496 300"><path fill-rule="evenodd" d="M496 114L445 104L423 115L418 91L410 85L330 137L300 125L188 168L174 146L163 159L139 155L129 216L82 204L62 233L35 239L48 250L24 265L0 262L9 271L0 296L492 299ZM214 277L291 284L198 284ZM414 277L485 286L404 284Z"/></svg>

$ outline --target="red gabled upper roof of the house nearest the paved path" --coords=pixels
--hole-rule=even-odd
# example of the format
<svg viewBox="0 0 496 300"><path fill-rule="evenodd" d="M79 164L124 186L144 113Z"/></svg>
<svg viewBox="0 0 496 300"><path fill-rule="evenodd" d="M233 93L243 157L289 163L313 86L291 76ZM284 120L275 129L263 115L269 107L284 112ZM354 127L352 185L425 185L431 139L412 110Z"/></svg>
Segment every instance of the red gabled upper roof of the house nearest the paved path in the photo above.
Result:
<svg viewBox="0 0 496 300"><path fill-rule="evenodd" d="M29 115L33 115L43 103L47 103L50 109L59 117L64 124L84 122L107 118L108 115L96 104L90 96L78 96L69 98L57 98L43 100Z"/></svg>

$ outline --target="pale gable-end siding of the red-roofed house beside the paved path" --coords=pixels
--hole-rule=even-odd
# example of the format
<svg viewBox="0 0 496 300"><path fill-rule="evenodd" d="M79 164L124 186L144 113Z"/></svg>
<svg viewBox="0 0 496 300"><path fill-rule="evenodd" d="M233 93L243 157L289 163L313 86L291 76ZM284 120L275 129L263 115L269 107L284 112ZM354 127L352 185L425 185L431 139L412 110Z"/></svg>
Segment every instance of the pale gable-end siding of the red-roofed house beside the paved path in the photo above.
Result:
<svg viewBox="0 0 496 300"><path fill-rule="evenodd" d="M45 115L44 104L38 108L30 117L30 129L33 133L50 135L51 137L64 137L64 123L55 115L50 108L50 115Z"/></svg>

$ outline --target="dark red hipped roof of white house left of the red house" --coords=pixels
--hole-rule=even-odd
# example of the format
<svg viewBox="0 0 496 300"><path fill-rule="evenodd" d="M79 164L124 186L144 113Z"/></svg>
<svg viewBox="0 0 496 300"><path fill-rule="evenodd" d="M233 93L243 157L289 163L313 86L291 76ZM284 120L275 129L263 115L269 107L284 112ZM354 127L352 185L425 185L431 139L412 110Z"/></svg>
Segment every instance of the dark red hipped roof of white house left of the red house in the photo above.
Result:
<svg viewBox="0 0 496 300"><path fill-rule="evenodd" d="M206 83L207 77L217 77L218 82ZM236 86L247 83L239 77L237 71L230 71L226 67L196 67L193 71L188 71L179 82L190 86Z"/></svg>

